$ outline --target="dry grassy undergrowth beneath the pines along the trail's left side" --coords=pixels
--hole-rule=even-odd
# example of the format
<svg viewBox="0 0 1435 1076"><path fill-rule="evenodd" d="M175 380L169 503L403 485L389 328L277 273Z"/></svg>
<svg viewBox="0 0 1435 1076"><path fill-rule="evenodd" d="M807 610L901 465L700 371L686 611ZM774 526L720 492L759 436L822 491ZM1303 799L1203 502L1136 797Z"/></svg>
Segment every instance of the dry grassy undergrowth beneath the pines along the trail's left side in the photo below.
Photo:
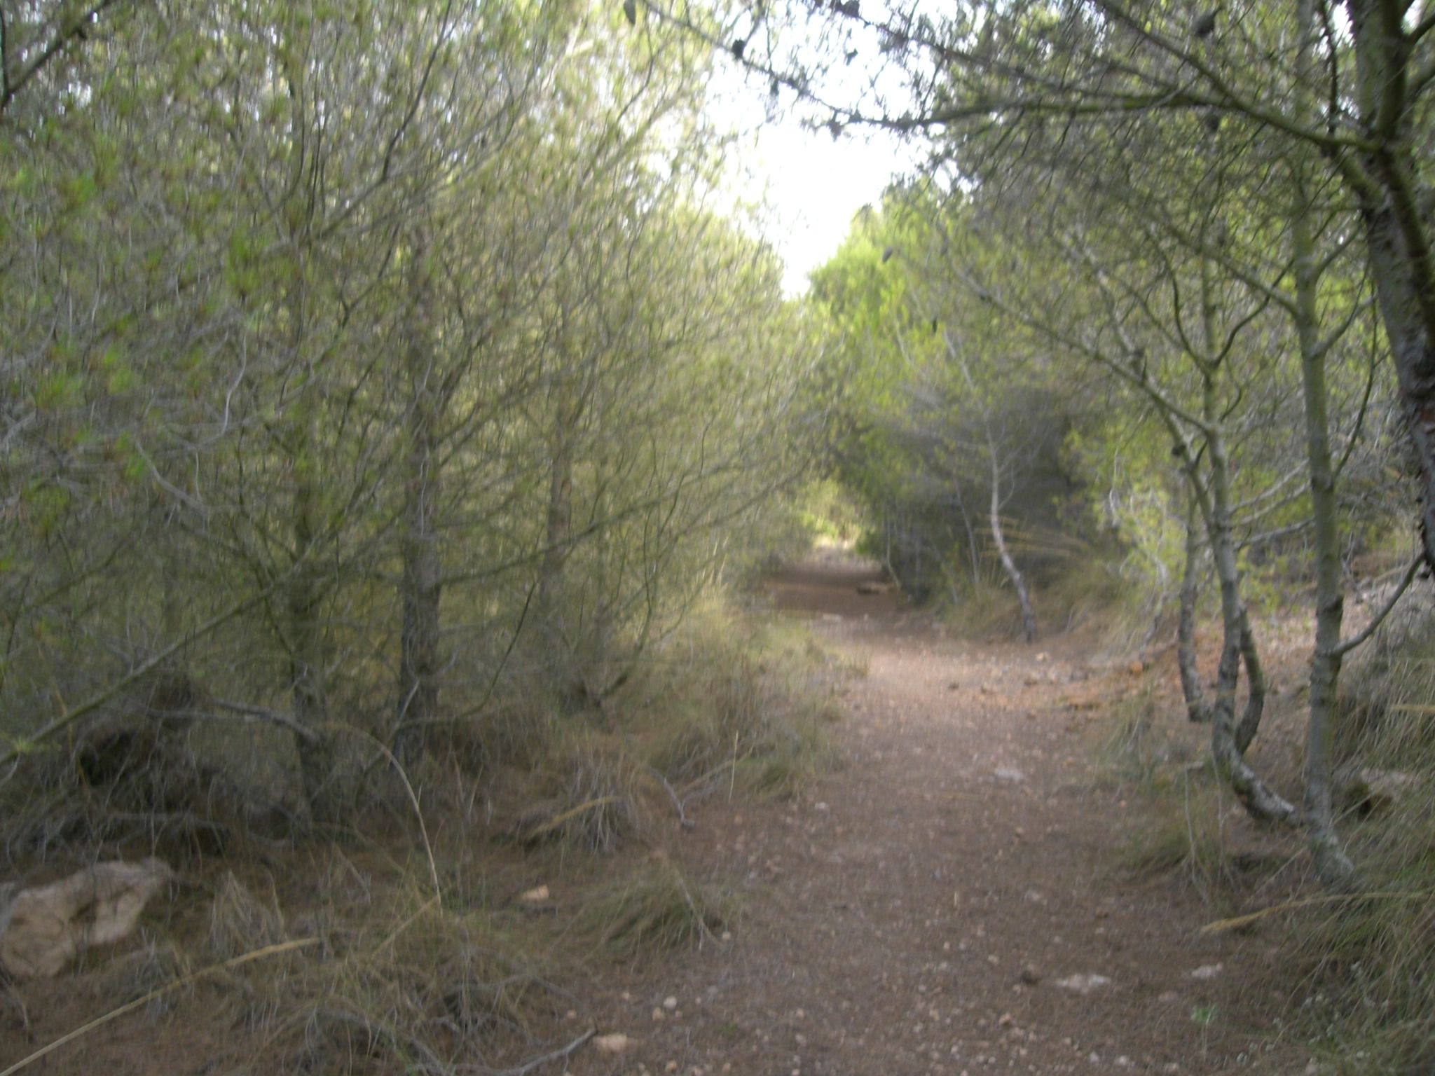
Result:
<svg viewBox="0 0 1435 1076"><path fill-rule="evenodd" d="M439 726L403 780L392 756L356 755L342 825L251 831L184 730L136 726L82 736L0 788L0 835L20 869L50 874L178 848L182 895L148 917L138 951L93 968L119 976L121 999L155 994L165 1019L225 1024L212 1043L228 1063L489 1070L571 1042L573 961L700 945L732 924L677 835L709 796L791 795L828 766L851 674L804 626L715 601L601 707L509 686ZM222 839L197 846L211 829Z"/></svg>

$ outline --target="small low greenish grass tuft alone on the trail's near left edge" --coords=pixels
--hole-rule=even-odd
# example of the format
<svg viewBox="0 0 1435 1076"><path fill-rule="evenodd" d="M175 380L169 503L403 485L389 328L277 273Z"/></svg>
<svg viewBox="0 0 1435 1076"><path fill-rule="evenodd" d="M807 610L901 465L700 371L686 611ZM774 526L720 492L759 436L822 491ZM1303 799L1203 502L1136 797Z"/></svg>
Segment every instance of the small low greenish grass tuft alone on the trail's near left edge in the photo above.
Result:
<svg viewBox="0 0 1435 1076"><path fill-rule="evenodd" d="M583 922L614 954L637 957L700 944L729 917L729 901L659 855L601 892Z"/></svg>

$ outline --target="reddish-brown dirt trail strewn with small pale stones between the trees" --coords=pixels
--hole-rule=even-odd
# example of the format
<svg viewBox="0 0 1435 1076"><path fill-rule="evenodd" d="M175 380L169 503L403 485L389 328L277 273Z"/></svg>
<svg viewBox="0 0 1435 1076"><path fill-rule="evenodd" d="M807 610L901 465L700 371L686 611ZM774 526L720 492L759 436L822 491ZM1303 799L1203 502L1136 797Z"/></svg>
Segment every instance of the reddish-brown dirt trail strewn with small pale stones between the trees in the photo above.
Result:
<svg viewBox="0 0 1435 1076"><path fill-rule="evenodd" d="M574 1070L1302 1072L1269 1017L1273 943L1198 935L1217 912L1188 887L1118 865L1126 803L1093 780L1085 726L1129 673L1091 673L1071 640L949 641L860 594L875 577L834 561L772 581L867 664L844 763L796 802L703 805L682 855L740 879L743 914L607 980L604 1030L640 1044Z"/></svg>

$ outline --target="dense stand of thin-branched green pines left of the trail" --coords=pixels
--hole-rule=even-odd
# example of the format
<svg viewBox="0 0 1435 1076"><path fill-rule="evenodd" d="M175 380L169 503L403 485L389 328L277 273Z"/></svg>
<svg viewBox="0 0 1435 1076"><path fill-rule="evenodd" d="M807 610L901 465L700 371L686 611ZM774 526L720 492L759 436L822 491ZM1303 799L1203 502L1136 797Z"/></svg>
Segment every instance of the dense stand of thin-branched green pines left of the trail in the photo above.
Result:
<svg viewBox="0 0 1435 1076"><path fill-rule="evenodd" d="M690 39L57 3L3 52L7 769L257 723L291 752L225 768L331 815L356 743L600 709L794 473L805 330Z"/></svg>

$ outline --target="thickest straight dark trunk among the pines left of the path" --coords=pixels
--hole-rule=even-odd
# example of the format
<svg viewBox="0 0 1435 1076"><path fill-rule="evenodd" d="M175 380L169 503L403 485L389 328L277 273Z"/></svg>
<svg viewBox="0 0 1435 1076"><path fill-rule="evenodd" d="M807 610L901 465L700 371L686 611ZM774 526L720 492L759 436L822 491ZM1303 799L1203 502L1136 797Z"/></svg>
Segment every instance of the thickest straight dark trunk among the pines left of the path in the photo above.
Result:
<svg viewBox="0 0 1435 1076"><path fill-rule="evenodd" d="M428 268L428 232L416 231L405 364L409 382L408 452L405 455L403 580L399 634L399 699L395 756L409 765L423 755L425 727L439 707L439 456L438 425L443 386L433 363L433 287Z"/></svg>

